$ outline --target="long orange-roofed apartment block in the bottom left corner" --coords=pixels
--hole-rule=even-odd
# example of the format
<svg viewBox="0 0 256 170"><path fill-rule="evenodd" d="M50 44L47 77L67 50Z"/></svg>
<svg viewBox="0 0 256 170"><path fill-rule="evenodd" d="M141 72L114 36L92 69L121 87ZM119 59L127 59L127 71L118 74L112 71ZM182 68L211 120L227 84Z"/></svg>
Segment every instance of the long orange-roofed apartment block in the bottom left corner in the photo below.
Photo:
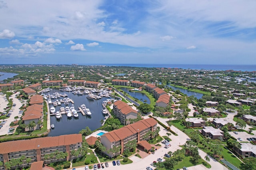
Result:
<svg viewBox="0 0 256 170"><path fill-rule="evenodd" d="M58 137L40 137L28 140L9 141L0 143L0 161L9 162L11 159L19 159L25 156L23 164L20 166L30 166L33 162L44 161L45 163L60 161L49 154L58 152L67 152L65 160L74 159L70 154L72 150L82 147L82 134L62 135ZM26 158L31 158L26 162ZM4 166L0 166L4 170Z"/></svg>

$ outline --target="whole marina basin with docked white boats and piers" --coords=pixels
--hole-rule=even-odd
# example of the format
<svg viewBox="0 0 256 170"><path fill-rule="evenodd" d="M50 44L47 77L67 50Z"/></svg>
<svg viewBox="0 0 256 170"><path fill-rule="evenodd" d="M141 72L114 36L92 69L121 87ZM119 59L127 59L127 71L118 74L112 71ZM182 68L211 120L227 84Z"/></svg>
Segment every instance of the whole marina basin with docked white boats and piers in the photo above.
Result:
<svg viewBox="0 0 256 170"><path fill-rule="evenodd" d="M79 133L81 129L85 129L87 126L93 131L104 125L109 117L108 111L103 113L102 109L105 108L107 102L115 100L109 97L110 94L104 92L105 94L102 95L100 92L92 93L92 90L86 90L86 92L80 90L82 94L78 95L73 93L74 90L71 88L69 90L70 92L50 90L42 93L44 99L50 101L49 109L52 107L55 109L54 113L50 113L50 125L54 125L54 128L51 128L48 136ZM88 99L88 94L91 94L93 99ZM101 95L100 98L96 98L99 94ZM56 102L55 105L54 102Z"/></svg>

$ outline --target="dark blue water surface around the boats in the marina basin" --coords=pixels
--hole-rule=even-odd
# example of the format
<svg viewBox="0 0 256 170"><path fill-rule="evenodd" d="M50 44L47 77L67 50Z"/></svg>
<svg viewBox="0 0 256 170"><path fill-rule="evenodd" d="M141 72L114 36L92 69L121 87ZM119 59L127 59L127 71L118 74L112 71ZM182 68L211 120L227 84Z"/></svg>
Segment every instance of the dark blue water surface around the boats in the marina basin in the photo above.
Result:
<svg viewBox="0 0 256 170"><path fill-rule="evenodd" d="M49 94L53 94L54 92L58 92L60 94L66 93L68 97L74 101L74 107L76 110L78 110L78 107L80 107L82 104L85 104L86 107L90 109L92 112L91 116L82 115L82 113L78 112L79 117L71 119L67 117L66 114L62 114L62 118L56 119L55 116L50 116L51 124L54 124L54 129L51 129L51 132L48 134L48 136L59 136L59 135L67 135L67 134L73 134L73 133L79 133L81 129L85 129L86 126L88 126L92 131L95 129L98 129L101 126L101 119L104 119L105 115L102 114L102 102L106 99L106 97L102 97L102 99L98 100L89 100L86 98L86 95L78 96L72 94L72 92L62 92L59 90L52 90L49 92ZM48 93L46 93L48 95ZM63 98L58 98L60 100ZM55 99L57 100L57 99ZM54 99L52 101L55 101ZM52 105L50 104L50 107ZM62 106L55 107L55 110L58 111L60 107L66 107L64 104ZM72 104L69 102L69 107L72 107Z"/></svg>

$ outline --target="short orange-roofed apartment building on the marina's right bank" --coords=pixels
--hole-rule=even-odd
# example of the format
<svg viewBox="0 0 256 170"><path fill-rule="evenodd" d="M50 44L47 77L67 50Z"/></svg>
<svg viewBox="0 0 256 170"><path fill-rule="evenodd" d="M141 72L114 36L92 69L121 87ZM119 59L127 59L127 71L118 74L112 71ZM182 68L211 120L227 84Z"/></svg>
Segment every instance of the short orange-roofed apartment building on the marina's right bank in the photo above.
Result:
<svg viewBox="0 0 256 170"><path fill-rule="evenodd" d="M120 100L114 102L113 112L120 120L122 125L130 124L129 119L136 119L138 115L138 112L136 110L132 109L131 106L128 106L128 104Z"/></svg>

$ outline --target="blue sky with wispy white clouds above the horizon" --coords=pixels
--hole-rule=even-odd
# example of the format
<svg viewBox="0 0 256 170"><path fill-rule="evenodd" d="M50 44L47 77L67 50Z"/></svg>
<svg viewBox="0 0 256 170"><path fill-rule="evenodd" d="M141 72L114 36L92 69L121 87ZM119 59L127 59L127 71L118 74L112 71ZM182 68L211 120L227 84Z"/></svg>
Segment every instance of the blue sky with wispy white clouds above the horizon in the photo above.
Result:
<svg viewBox="0 0 256 170"><path fill-rule="evenodd" d="M0 64L256 64L255 0L0 0Z"/></svg>

